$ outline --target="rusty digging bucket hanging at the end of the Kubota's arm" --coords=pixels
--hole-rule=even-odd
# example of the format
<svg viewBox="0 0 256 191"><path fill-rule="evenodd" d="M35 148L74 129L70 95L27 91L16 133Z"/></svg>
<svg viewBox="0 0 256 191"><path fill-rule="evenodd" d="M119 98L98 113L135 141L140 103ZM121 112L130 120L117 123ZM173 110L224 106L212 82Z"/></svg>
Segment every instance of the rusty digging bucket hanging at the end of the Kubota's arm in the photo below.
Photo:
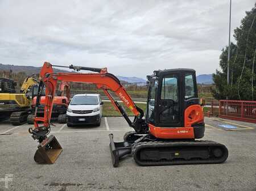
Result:
<svg viewBox="0 0 256 191"><path fill-rule="evenodd" d="M38 164L53 164L61 154L62 150L63 149L55 136L50 135L38 146L34 160Z"/></svg>

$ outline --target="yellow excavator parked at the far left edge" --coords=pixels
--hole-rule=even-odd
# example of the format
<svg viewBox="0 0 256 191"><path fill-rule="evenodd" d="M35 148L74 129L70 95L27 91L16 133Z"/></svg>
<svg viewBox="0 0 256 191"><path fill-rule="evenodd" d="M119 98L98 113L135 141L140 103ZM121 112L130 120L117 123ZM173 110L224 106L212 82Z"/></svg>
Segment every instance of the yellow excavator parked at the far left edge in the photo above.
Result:
<svg viewBox="0 0 256 191"><path fill-rule="evenodd" d="M14 80L0 78L0 121L10 118L13 125L27 122L27 116L31 111L31 99L27 92L35 84L38 84L38 80L27 77L20 92L16 93Z"/></svg>

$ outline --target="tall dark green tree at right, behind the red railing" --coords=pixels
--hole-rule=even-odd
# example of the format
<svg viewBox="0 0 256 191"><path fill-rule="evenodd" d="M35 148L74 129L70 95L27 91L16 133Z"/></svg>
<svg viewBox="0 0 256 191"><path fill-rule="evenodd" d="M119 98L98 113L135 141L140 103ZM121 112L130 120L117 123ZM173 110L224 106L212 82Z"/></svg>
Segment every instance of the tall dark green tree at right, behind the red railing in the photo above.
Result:
<svg viewBox="0 0 256 191"><path fill-rule="evenodd" d="M212 94L216 99L256 100L256 8L246 11L241 26L234 29L237 44L230 44L230 79L228 71L228 46L222 49L220 67L213 74L215 87Z"/></svg>

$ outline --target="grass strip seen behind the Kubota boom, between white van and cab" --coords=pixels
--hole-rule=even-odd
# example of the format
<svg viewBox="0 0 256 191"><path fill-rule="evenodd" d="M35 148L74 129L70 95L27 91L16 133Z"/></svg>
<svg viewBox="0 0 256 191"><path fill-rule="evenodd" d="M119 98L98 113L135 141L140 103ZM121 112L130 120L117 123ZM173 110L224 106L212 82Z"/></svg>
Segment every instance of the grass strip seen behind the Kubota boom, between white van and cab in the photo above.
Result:
<svg viewBox="0 0 256 191"><path fill-rule="evenodd" d="M123 103L119 103L123 105ZM147 104L136 104L139 108L141 108L144 112L146 111ZM125 108L125 111L127 115L134 116L133 112L130 111L125 105L123 105L123 108ZM122 116L122 114L115 110L114 106L111 102L104 101L103 105L103 116Z"/></svg>

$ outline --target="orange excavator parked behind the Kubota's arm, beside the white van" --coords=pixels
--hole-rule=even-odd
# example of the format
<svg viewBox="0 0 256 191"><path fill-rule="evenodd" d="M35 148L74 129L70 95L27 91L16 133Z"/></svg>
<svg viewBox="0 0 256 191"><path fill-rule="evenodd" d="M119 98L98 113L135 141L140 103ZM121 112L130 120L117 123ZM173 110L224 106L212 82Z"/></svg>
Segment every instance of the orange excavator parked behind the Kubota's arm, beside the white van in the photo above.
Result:
<svg viewBox="0 0 256 191"><path fill-rule="evenodd" d="M32 89L32 112L27 117L28 124L34 124L34 113L35 113L35 105L36 105L36 96L38 94L39 85L36 84ZM65 93L65 94L64 94ZM65 124L67 121L66 112L70 100L70 86L69 82L60 82L59 88L55 93L55 97L53 100L53 108L52 108L52 117L57 117L58 122L60 124ZM38 116L43 116L44 114L44 104L46 103L45 96L45 88L42 91L42 95L40 97L40 105L38 105L37 114Z"/></svg>

